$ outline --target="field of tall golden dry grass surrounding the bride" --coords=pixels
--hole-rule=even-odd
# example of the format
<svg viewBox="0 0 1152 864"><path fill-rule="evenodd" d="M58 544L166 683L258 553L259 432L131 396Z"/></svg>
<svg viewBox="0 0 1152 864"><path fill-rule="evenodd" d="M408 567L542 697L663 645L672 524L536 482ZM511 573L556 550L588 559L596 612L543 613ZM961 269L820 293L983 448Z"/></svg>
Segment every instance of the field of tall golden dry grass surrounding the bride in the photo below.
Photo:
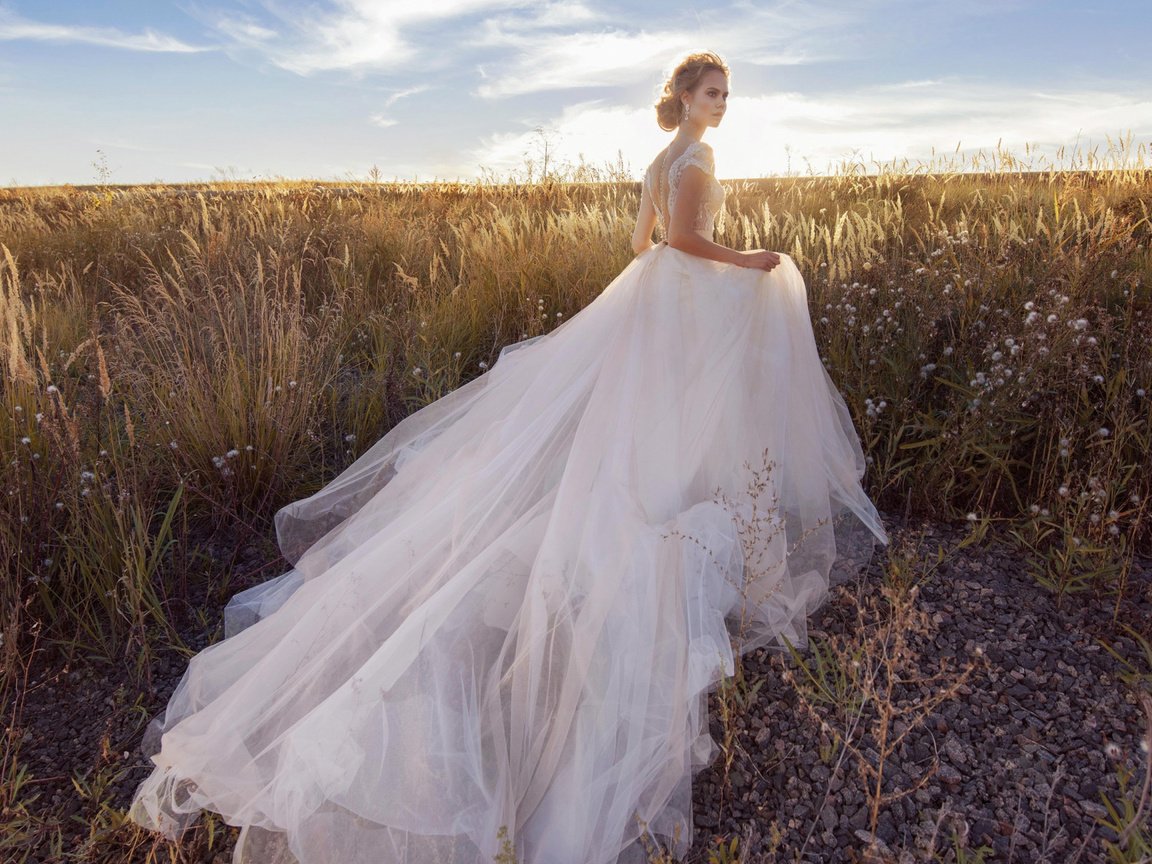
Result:
<svg viewBox="0 0 1152 864"><path fill-rule="evenodd" d="M880 510L960 530L965 552L1010 550L1053 602L1100 611L1116 639L1143 646L1122 658L1130 705L1152 691L1152 624L1132 612L1152 601L1140 576L1152 543L1152 169L1137 156L1136 167L1009 159L726 181L717 236L799 266ZM122 820L142 778L138 761L126 774L127 751L167 695L158 670L170 679L218 638L233 592L281 573L279 507L611 282L631 258L638 192L611 170L0 190L6 861L212 861L219 820L183 858ZM889 558L886 584L907 589L909 573L930 570L922 553ZM915 606L915 591L897 593L893 609ZM819 675L842 659L828 653ZM789 674L819 702L808 668L797 658ZM123 672L100 703L99 745L78 761L61 750L55 776L29 773L29 712L45 704L30 682L85 669ZM941 700L962 687L952 683ZM751 704L740 688L718 695L726 746ZM850 744L846 732L828 746ZM1146 749L1129 774L1119 765L1105 796L1116 809L1101 806L1112 833L1084 861L1149 861L1146 766ZM892 801L881 774L882 761L855 778L874 790L873 833ZM958 840L939 855L982 859Z"/></svg>

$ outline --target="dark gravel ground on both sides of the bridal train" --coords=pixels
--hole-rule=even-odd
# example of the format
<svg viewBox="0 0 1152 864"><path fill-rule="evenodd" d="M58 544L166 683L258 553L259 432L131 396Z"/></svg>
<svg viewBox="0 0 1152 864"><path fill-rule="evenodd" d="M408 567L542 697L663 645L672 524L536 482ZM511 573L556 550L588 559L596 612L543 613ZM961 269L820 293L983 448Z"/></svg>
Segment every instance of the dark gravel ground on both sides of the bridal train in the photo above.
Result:
<svg viewBox="0 0 1152 864"><path fill-rule="evenodd" d="M930 675L941 664L953 670L971 664L969 676L923 714L912 700L926 704L957 674L922 682L918 690L915 682L894 683L888 702L900 711L888 741L905 736L882 760L880 788L893 799L879 806L873 825L869 783L884 746L884 700L866 699L858 717L813 704L795 659L750 652L744 677L758 689L736 705L727 726L723 705L733 703L722 704L720 692L710 697L718 756L696 778L696 836L687 861L707 862L718 838L737 838L746 862L903 864L931 861L932 850L956 861L954 843L969 851L986 847L985 861L1109 861L1104 841L1115 833L1099 824L1107 812L1101 793L1119 802L1116 765L1136 772L1138 786L1147 756L1139 750L1146 721L1136 688L1122 680L1124 664L1105 645L1152 673L1152 659L1117 623L1149 638L1152 566L1134 570L1119 611L1107 598L1084 594L1058 602L1024 573L1020 555L991 536L957 551L964 526L888 522L894 544L915 543L925 554L938 544L946 551L914 596L903 629L905 672ZM242 570L260 563L255 548L241 556ZM858 582L839 586L812 617L810 638L874 649L882 606L873 608L869 599L879 597L884 571L880 552ZM271 575L265 562L259 578ZM217 629L191 617L182 622L195 650L220 638L221 605L205 604ZM146 859L150 847L131 849L127 838L136 834L130 824L119 825L116 813L150 771L141 735L185 666L175 652L158 658L152 691L141 694L124 668L77 659L69 666L52 652L37 654L18 718L20 758L31 774L22 794L25 801L39 796L28 809L40 819L60 820L62 842L55 849L30 842L29 857L10 859ZM838 746L838 738L852 748ZM74 785L74 775L84 781ZM236 829L217 825L226 834L209 848L206 832L199 832L187 861L230 862Z"/></svg>

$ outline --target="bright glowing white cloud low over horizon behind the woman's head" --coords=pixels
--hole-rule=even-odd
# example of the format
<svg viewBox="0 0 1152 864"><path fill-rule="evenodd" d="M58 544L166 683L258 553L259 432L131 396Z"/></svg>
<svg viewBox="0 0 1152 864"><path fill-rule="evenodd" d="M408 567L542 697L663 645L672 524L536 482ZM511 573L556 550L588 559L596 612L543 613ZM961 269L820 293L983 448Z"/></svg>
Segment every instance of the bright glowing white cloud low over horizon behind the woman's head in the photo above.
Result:
<svg viewBox="0 0 1152 864"><path fill-rule="evenodd" d="M559 116L525 121L524 127L483 139L463 154L473 161L462 173L478 174L477 166L498 174L520 170L525 153L536 156L540 135L535 129L541 127L553 138L560 162L576 162L583 153L585 161L605 165L622 151L639 179L669 138L657 127L651 107L604 100L569 105ZM952 159L957 170L990 169L998 145L1041 168L1071 159L1075 147L1082 158L1098 147L1097 158L1104 159L1107 138L1129 131L1137 141L1152 137L1152 100L1122 92L1036 92L946 79L819 94L734 94L721 126L708 130L706 141L715 147L718 175L736 179L789 170L823 174L846 160L863 162L870 173L893 160L916 167ZM1025 145L1031 147L1029 157Z"/></svg>

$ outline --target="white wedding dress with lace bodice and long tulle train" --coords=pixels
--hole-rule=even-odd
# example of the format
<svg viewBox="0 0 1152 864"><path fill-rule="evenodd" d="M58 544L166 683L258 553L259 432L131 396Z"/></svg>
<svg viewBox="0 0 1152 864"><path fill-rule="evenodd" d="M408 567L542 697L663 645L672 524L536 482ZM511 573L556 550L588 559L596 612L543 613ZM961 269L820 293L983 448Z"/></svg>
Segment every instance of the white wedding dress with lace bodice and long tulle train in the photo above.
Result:
<svg viewBox="0 0 1152 864"><path fill-rule="evenodd" d="M664 156L661 232L695 165L711 238L711 147ZM129 814L217 811L236 864L682 856L708 690L887 543L863 470L793 260L659 243L276 513L293 568L228 602Z"/></svg>

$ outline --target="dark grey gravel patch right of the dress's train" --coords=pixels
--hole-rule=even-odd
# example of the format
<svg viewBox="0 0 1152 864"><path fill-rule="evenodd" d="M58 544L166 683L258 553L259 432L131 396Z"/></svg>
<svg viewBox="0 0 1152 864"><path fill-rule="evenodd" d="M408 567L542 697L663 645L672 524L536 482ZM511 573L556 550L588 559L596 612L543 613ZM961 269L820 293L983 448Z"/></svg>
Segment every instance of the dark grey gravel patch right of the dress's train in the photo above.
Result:
<svg viewBox="0 0 1152 864"><path fill-rule="evenodd" d="M914 535L931 552L937 544L955 548L963 529L893 532L897 543ZM857 585L841 586L813 616L811 638L863 642L858 599L880 583L880 567L877 560ZM1097 824L1107 812L1100 793L1119 802L1117 761L1137 772L1134 786L1139 787L1149 758L1139 748L1147 718L1134 688L1119 677L1124 665L1101 641L1144 673L1152 673L1152 658L1116 627L1113 608L1078 594L1058 604L1023 569L1013 548L985 540L953 552L917 590L915 607L926 627L905 630L908 668L931 674L941 661L958 668L967 660L973 668L957 694L918 723L907 723L911 729L888 760L884 791L911 790L930 776L915 793L879 809L873 844L879 861L931 859L930 850L953 848L953 836L973 851L987 847L986 861L1109 861L1102 839L1116 836ZM1152 567L1143 562L1131 578L1135 599L1120 619L1147 639ZM745 657L745 677L764 683L737 720L733 791L723 793L722 757L697 779L702 836L692 852L698 861L706 861L700 841L718 834L738 835L752 859L866 858L862 852L873 834L861 759L851 752L821 758L821 744L827 753L833 736L818 718L833 712L813 715L805 708L788 683L795 680L789 666L794 661L780 653ZM909 698L901 702L910 705ZM715 694L712 705L711 732L719 742L723 728ZM858 730L856 737L859 751L874 759L879 712L873 705L863 713L861 726L869 734ZM829 726L847 728L842 720ZM899 720L893 726L902 728ZM776 857L768 855L773 847L780 850Z"/></svg>

